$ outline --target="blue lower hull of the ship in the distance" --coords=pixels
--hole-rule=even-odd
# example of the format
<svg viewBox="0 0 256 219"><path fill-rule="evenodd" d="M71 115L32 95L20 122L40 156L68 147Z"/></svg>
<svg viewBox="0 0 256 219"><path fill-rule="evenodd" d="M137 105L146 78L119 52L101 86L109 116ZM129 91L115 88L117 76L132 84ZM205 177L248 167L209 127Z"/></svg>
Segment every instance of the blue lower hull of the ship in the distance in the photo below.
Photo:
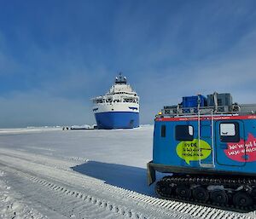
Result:
<svg viewBox="0 0 256 219"><path fill-rule="evenodd" d="M95 118L100 130L133 129L139 126L138 112L97 112Z"/></svg>

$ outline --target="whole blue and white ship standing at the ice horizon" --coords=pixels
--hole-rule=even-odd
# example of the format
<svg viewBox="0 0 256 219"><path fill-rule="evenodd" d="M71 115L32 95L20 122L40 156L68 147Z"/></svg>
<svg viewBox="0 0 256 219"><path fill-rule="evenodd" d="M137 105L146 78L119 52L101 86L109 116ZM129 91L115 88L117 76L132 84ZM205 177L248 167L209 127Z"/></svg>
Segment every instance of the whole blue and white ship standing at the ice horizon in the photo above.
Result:
<svg viewBox="0 0 256 219"><path fill-rule="evenodd" d="M133 129L139 126L139 96L122 73L106 95L92 99L98 129Z"/></svg>

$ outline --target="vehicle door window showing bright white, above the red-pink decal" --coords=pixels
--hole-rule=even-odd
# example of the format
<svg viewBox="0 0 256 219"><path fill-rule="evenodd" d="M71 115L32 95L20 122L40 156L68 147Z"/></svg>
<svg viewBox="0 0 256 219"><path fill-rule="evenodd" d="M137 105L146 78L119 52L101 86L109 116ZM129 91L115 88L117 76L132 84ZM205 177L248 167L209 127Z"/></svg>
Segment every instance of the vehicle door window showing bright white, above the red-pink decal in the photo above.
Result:
<svg viewBox="0 0 256 219"><path fill-rule="evenodd" d="M219 125L220 141L222 142L239 142L239 124L238 123L221 123Z"/></svg>

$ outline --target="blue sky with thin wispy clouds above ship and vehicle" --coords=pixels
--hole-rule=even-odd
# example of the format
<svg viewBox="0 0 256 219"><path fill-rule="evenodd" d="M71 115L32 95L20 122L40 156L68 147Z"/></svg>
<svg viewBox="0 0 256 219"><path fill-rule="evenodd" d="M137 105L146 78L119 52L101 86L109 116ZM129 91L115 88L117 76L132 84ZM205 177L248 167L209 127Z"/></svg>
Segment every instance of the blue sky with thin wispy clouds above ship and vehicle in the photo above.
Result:
<svg viewBox="0 0 256 219"><path fill-rule="evenodd" d="M0 127L94 124L124 72L141 123L183 95L256 103L256 1L0 0Z"/></svg>

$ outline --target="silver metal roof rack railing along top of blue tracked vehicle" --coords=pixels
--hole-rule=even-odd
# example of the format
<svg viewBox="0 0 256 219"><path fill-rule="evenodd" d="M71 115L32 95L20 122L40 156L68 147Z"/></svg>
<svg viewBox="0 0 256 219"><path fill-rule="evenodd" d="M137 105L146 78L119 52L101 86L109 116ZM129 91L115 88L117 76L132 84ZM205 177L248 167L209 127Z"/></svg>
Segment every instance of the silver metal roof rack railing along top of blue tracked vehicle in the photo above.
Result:
<svg viewBox="0 0 256 219"><path fill-rule="evenodd" d="M256 114L256 104L233 104L231 106L212 106L212 107L181 107L166 106L161 110L160 116L179 117L179 116L198 116L200 115L250 115Z"/></svg>

